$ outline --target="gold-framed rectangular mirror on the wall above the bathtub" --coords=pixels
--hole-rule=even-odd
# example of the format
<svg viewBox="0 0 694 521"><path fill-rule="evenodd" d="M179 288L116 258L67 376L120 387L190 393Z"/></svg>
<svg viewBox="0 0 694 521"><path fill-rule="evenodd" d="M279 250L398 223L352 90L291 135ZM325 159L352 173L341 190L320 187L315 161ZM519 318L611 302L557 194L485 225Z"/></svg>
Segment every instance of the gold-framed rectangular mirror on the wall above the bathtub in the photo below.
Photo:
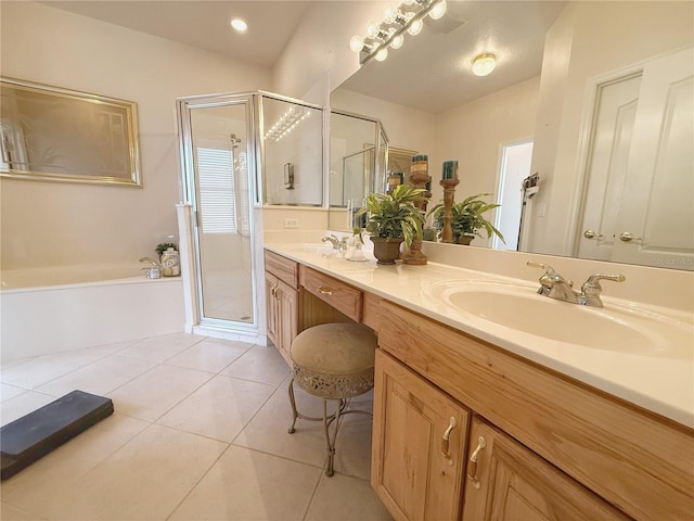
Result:
<svg viewBox="0 0 694 521"><path fill-rule="evenodd" d="M141 187L137 105L0 79L0 176Z"/></svg>

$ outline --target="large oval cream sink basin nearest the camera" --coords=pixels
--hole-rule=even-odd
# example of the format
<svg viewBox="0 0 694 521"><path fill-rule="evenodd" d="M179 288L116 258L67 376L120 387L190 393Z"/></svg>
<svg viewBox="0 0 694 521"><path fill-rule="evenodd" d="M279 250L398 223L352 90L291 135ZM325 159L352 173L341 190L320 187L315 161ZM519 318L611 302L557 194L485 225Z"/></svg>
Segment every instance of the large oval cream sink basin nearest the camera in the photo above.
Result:
<svg viewBox="0 0 694 521"><path fill-rule="evenodd" d="M507 283L447 283L437 293L459 312L535 336L642 356L694 356L692 327L653 313L579 306Z"/></svg>

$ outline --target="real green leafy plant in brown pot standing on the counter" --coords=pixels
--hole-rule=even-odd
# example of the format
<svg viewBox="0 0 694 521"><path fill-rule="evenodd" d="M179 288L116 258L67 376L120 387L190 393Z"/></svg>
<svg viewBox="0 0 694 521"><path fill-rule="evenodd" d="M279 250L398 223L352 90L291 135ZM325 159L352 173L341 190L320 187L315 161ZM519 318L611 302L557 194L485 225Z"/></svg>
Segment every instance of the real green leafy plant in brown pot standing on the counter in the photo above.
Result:
<svg viewBox="0 0 694 521"><path fill-rule="evenodd" d="M422 239L424 216L414 203L422 199L424 190L398 185L389 193L370 193L367 205L357 216L369 214L367 231L371 233L373 254L378 264L395 264L400 257L400 244L408 247L414 239Z"/></svg>

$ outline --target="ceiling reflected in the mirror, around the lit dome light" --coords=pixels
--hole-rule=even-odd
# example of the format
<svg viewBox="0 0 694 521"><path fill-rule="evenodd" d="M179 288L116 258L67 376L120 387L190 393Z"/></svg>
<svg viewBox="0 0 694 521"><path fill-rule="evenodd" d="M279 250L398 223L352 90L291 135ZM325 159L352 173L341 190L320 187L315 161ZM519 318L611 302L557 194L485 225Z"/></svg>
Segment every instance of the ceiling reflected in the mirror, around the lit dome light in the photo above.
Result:
<svg viewBox="0 0 694 521"><path fill-rule="evenodd" d="M384 62L372 60L340 87L438 114L540 75L544 36L566 2L448 1L441 20ZM497 55L496 71L472 74L480 53Z"/></svg>

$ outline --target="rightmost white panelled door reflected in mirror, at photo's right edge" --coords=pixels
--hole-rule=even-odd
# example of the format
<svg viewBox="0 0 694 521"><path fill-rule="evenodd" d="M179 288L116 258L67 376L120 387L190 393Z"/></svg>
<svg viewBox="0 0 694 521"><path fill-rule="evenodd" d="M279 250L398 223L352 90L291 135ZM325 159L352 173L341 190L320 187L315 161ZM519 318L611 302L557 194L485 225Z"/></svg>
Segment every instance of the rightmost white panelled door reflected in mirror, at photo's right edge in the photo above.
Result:
<svg viewBox="0 0 694 521"><path fill-rule="evenodd" d="M644 67L613 260L694 269L693 143L690 48Z"/></svg>

